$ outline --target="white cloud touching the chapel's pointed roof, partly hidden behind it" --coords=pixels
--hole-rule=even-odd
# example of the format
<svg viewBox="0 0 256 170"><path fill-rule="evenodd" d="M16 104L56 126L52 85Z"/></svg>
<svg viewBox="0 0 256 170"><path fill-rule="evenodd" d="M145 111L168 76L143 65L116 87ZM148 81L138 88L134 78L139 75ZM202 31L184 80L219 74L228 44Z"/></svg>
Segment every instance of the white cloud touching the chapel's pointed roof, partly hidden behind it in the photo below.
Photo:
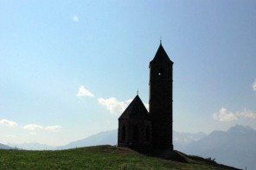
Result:
<svg viewBox="0 0 256 170"><path fill-rule="evenodd" d="M101 105L106 106L107 110L110 110L112 115L121 115L127 106L131 104L132 99L128 99L125 102L118 101L117 98L98 98L98 102ZM144 104L146 109L149 110L149 104Z"/></svg>

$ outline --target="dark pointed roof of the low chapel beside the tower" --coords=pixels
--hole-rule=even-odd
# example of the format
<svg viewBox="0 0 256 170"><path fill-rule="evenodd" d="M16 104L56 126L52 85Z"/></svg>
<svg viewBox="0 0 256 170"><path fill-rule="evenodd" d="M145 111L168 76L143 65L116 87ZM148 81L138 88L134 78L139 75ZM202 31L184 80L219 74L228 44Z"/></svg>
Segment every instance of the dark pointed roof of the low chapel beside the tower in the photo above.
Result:
<svg viewBox="0 0 256 170"><path fill-rule="evenodd" d="M131 101L119 119L150 119L150 114L138 95Z"/></svg>

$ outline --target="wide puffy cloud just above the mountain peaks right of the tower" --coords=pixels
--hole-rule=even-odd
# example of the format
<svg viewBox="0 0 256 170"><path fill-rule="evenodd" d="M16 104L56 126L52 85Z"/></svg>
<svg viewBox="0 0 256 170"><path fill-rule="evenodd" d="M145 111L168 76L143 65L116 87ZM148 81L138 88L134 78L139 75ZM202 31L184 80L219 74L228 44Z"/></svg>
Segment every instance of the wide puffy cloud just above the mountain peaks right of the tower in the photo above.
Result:
<svg viewBox="0 0 256 170"><path fill-rule="evenodd" d="M256 113L251 110L243 110L241 112L231 112L226 108L222 107L218 113L214 113L212 116L215 120L220 122L232 122L238 120L239 118L253 118L256 119Z"/></svg>

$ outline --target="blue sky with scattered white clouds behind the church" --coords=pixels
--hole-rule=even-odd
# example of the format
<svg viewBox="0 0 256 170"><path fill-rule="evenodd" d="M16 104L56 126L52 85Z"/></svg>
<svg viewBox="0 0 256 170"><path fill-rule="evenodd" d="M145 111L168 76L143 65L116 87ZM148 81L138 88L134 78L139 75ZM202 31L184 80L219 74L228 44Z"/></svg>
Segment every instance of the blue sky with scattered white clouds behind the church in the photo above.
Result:
<svg viewBox="0 0 256 170"><path fill-rule="evenodd" d="M162 40L174 129L256 129L256 2L0 0L0 143L64 145L118 128Z"/></svg>

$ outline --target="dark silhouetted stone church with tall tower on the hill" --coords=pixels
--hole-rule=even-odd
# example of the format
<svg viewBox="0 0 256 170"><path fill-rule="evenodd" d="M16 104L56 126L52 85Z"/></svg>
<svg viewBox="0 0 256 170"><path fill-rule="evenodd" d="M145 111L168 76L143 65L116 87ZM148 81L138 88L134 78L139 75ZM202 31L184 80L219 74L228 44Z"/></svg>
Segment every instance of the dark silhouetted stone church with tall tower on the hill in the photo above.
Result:
<svg viewBox="0 0 256 170"><path fill-rule="evenodd" d="M118 146L170 149L173 115L173 62L163 49L150 61L149 111L138 95L118 118Z"/></svg>

